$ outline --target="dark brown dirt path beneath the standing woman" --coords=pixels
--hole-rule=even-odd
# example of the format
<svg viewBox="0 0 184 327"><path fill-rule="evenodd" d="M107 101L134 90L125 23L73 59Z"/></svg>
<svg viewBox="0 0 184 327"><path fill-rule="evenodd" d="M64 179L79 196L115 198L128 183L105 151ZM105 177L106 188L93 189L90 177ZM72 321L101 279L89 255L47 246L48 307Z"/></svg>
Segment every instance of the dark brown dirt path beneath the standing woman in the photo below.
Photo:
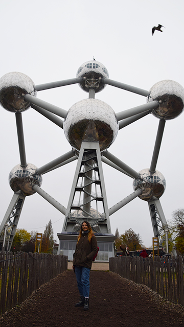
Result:
<svg viewBox="0 0 184 327"><path fill-rule="evenodd" d="M0 318L0 327L183 326L184 309L143 285L106 271L90 272L89 311L75 307L76 277L67 270Z"/></svg>

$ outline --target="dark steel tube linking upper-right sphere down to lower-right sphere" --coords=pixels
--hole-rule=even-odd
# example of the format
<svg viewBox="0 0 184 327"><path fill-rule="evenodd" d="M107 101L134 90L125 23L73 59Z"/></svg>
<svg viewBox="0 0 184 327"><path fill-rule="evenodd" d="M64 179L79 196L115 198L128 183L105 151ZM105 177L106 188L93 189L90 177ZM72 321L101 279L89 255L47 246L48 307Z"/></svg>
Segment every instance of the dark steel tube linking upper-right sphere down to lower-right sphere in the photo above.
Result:
<svg viewBox="0 0 184 327"><path fill-rule="evenodd" d="M163 138L163 134L164 134L165 123L166 123L165 120L160 120L159 121L155 146L154 146L154 150L153 150L153 156L152 156L152 160L151 160L151 166L150 166L150 169L149 169L149 171L151 173L154 173L155 169L156 169L158 154L159 154L159 150L160 150L160 146L161 146L162 138Z"/></svg>

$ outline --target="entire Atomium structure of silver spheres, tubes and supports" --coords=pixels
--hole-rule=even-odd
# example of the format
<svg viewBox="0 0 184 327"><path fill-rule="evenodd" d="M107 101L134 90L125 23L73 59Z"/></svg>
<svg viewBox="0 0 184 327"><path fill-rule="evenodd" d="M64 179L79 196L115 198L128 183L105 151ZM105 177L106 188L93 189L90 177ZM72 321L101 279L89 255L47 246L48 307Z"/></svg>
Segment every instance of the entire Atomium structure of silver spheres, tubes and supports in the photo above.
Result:
<svg viewBox="0 0 184 327"><path fill-rule="evenodd" d="M37 98L37 92L64 85L79 84L88 98L75 103L68 111ZM118 87L146 98L146 103L132 109L115 113L105 102L95 98L106 85ZM35 85L22 73L9 73L0 79L0 103L15 113L19 144L20 164L9 174L14 194L0 226L0 243L10 250L25 198L37 192L64 216L63 228L58 233L58 254L73 258L75 245L83 220L89 221L100 247L98 259L108 261L114 255L114 240L109 216L139 197L147 201L153 226L153 235L166 234L168 226L159 198L166 188L166 180L156 170L156 164L166 120L176 118L183 111L184 89L175 81L164 80L154 84L149 91L109 79L106 67L95 60L82 64L76 78ZM72 150L37 168L26 160L22 112L34 108L64 130ZM120 129L153 114L159 119L155 146L149 168L140 172L109 152ZM77 159L76 172L67 207L41 189L42 175ZM133 179L133 193L108 208L102 161ZM166 249L168 251L168 248Z"/></svg>

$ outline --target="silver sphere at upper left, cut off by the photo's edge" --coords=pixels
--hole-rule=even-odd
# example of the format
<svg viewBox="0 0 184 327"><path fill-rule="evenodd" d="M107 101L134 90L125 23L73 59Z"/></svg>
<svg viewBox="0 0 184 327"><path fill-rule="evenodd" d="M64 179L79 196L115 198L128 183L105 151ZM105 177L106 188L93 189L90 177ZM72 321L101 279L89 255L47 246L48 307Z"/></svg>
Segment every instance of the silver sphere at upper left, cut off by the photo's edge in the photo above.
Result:
<svg viewBox="0 0 184 327"><path fill-rule="evenodd" d="M36 97L35 84L27 75L12 72L0 79L0 103L6 110L20 112L28 109L30 103L24 100L26 94Z"/></svg>

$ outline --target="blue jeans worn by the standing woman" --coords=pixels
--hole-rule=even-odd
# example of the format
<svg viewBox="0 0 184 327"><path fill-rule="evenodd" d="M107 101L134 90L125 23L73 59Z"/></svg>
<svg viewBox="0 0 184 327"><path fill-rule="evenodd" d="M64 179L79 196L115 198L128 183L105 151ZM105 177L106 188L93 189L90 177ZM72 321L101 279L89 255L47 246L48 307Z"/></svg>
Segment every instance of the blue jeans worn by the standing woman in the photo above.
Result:
<svg viewBox="0 0 184 327"><path fill-rule="evenodd" d="M75 266L77 286L80 296L89 297L89 272L89 268Z"/></svg>

